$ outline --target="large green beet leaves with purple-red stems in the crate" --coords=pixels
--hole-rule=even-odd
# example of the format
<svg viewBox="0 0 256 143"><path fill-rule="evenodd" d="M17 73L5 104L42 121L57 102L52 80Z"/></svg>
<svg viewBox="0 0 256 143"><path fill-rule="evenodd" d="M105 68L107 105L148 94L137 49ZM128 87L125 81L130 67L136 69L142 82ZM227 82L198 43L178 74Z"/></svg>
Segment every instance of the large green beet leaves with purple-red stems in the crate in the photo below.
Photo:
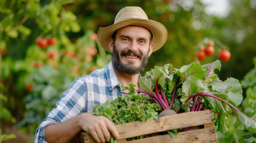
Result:
<svg viewBox="0 0 256 143"><path fill-rule="evenodd" d="M215 70L220 69L219 60L203 66L193 62L174 71L171 64L155 66L139 80L141 90L138 92L152 97L164 110L167 106L177 113L210 107L216 113L215 125L220 132L229 130L227 116L234 111L237 117L235 126L256 133L256 115L251 119L236 108L243 100L242 85L233 77L220 80L215 74ZM165 97L170 105L165 104Z"/></svg>

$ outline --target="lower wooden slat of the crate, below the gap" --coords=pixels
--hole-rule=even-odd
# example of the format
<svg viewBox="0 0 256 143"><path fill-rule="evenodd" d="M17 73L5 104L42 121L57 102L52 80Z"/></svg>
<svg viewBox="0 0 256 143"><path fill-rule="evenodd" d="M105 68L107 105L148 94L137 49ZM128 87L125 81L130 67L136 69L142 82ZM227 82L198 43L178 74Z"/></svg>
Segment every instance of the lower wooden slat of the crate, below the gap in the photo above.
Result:
<svg viewBox="0 0 256 143"><path fill-rule="evenodd" d="M126 143L180 143L180 142L196 142L196 143L217 143L217 135L214 127L190 130L186 132L179 132L175 138L171 138L169 134L153 136L150 138L137 139L133 141L127 141Z"/></svg>

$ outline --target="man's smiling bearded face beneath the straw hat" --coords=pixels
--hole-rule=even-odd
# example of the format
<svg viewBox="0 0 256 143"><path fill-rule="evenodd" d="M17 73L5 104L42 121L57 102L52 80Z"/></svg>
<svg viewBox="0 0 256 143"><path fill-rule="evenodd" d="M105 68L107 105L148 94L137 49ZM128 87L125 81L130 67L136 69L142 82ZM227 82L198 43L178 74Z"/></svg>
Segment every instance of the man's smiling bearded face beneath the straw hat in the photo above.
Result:
<svg viewBox="0 0 256 143"><path fill-rule="evenodd" d="M121 73L140 73L144 70L152 49L149 30L138 26L123 27L117 31L115 43L112 41L110 46L113 65Z"/></svg>

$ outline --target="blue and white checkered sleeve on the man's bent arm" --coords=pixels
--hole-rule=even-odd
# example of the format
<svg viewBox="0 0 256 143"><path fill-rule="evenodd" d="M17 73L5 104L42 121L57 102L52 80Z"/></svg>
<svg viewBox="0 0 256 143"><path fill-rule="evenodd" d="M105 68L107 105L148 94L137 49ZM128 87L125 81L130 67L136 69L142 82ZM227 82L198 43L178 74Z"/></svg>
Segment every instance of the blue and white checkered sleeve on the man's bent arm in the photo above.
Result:
<svg viewBox="0 0 256 143"><path fill-rule="evenodd" d="M87 88L81 79L76 79L61 95L60 100L56 102L56 107L50 111L47 117L36 129L35 142L45 143L45 127L56 123L62 123L72 117L85 112L85 95Z"/></svg>

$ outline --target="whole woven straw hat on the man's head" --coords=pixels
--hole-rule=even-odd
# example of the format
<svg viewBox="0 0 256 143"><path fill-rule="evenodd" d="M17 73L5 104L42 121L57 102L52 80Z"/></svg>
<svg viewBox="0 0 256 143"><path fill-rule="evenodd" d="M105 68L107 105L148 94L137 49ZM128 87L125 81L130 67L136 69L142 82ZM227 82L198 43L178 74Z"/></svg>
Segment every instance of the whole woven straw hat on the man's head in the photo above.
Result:
<svg viewBox="0 0 256 143"><path fill-rule="evenodd" d="M163 24L149 20L140 7L125 7L116 14L114 24L108 27L100 27L98 30L98 41L101 47L110 52L109 38L116 30L125 26L141 26L150 30L153 35L153 52L160 49L166 42L167 30Z"/></svg>

